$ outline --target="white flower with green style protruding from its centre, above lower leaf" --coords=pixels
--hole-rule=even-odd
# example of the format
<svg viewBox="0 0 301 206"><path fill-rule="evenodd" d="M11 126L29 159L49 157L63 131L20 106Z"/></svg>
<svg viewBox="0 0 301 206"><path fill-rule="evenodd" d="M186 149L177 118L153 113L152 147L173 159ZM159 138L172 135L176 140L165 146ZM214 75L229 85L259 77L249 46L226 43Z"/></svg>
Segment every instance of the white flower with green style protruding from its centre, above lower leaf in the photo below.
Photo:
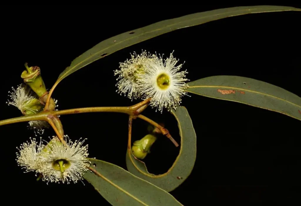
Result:
<svg viewBox="0 0 301 206"><path fill-rule="evenodd" d="M40 155L41 167L38 171L42 173L44 181L69 183L72 180L76 183L77 180L82 180L82 174L90 166L87 159L88 145L82 146L85 140L73 143L67 135L64 139L66 145L54 137L48 143L48 148L51 149Z"/></svg>

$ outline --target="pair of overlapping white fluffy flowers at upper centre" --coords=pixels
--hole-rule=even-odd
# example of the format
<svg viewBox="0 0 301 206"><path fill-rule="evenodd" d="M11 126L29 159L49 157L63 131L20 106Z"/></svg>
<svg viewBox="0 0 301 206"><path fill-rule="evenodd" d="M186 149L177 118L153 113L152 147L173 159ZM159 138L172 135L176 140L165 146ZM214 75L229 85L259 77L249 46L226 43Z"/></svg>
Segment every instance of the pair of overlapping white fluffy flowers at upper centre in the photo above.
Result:
<svg viewBox="0 0 301 206"><path fill-rule="evenodd" d="M163 60L163 55L151 55L143 51L140 55L134 52L131 59L121 62L119 70L114 74L119 80L116 86L120 95L127 95L130 99L151 98L151 107L156 107L156 111L163 111L163 107L168 111L176 109L181 103L181 97L187 95L185 89L185 71L179 71L183 64L177 64L178 60L172 53Z"/></svg>

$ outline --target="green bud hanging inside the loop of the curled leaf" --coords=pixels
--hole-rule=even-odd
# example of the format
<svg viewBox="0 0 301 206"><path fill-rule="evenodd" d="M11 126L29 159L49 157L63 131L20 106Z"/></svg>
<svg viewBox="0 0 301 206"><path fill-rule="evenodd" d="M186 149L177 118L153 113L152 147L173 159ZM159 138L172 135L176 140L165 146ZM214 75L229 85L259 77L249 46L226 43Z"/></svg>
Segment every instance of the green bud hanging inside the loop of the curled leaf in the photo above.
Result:
<svg viewBox="0 0 301 206"><path fill-rule="evenodd" d="M144 159L146 155L151 152L151 146L156 140L156 136L148 134L142 139L135 141L132 146L132 154L138 159Z"/></svg>

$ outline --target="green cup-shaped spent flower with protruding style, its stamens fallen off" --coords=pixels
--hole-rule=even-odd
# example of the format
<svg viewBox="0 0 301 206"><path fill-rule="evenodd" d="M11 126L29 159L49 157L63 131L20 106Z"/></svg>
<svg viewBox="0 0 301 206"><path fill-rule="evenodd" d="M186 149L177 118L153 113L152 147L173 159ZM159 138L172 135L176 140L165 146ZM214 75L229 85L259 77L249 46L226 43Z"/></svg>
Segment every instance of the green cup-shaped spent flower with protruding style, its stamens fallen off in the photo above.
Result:
<svg viewBox="0 0 301 206"><path fill-rule="evenodd" d="M41 97L45 94L46 87L41 76L40 67L28 67L27 63L25 63L25 67L26 70L21 74L22 79L39 97Z"/></svg>

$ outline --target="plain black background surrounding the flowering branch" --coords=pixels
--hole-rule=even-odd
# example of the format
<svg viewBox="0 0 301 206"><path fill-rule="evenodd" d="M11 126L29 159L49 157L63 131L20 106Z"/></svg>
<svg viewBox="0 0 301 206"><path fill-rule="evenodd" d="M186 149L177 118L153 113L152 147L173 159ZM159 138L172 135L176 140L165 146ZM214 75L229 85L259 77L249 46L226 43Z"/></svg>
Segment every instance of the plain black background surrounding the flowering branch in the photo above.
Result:
<svg viewBox="0 0 301 206"><path fill-rule="evenodd" d="M20 116L5 104L11 86L22 83L23 64L39 66L48 89L61 71L98 42L126 31L195 12L243 5L18 5L2 6L1 119ZM286 5L301 7L298 5ZM262 80L301 96L301 42L298 12L230 17L167 33L122 49L64 79L53 93L58 109L126 106L115 90L119 62L130 52L164 53L184 62L191 81L214 75ZM184 97L197 134L197 160L188 179L171 194L184 205L288 204L300 196L300 121L280 113L198 95ZM179 141L177 123L167 111L147 108L144 115L164 123ZM90 157L126 169L127 115L90 113L61 116L71 139L88 138ZM2 195L13 203L109 203L86 181L36 182L15 161L16 147L34 137L27 123L1 126ZM133 140L147 133L134 120ZM49 129L43 137L54 135ZM178 154L166 138L152 147L145 162L164 173ZM62 201L62 202L61 202Z"/></svg>

